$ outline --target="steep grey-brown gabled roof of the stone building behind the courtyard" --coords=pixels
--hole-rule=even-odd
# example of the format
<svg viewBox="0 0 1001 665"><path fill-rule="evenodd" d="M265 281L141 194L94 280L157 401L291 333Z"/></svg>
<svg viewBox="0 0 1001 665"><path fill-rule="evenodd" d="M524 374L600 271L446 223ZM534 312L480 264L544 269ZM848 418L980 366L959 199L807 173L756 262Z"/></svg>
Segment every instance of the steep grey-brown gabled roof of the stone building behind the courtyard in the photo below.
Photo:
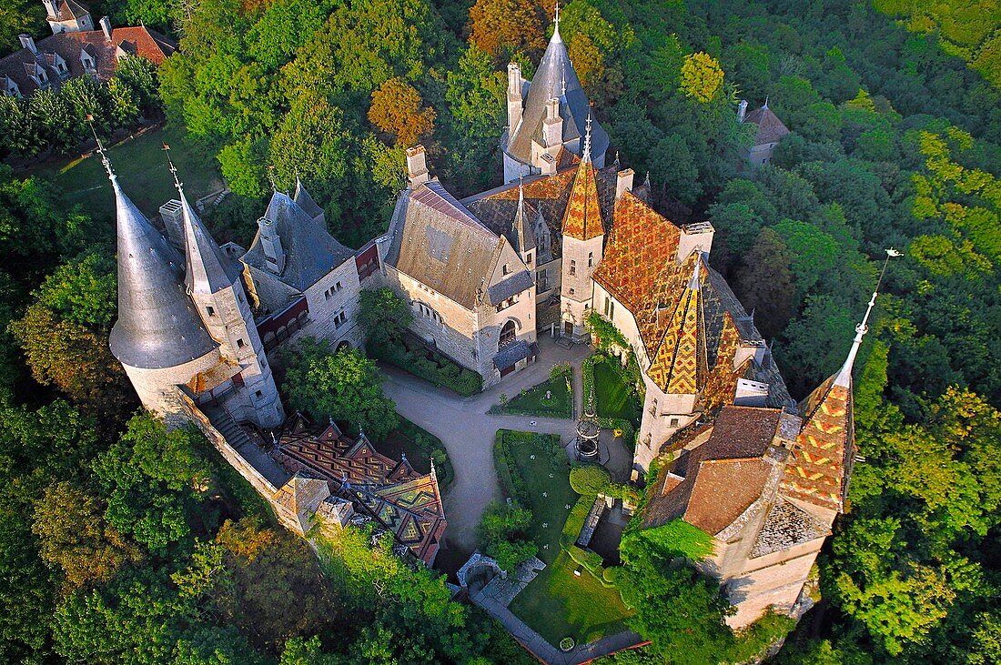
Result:
<svg viewBox="0 0 1001 665"><path fill-rule="evenodd" d="M475 309L502 241L439 182L430 180L399 195L389 236L389 265Z"/></svg>

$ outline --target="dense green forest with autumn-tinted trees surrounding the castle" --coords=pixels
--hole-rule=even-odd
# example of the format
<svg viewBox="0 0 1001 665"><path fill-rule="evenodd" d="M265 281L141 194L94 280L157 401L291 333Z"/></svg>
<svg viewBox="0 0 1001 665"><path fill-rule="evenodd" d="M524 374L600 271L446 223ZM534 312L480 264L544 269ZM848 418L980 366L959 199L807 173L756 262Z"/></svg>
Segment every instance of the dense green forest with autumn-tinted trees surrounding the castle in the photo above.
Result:
<svg viewBox="0 0 1001 665"><path fill-rule="evenodd" d="M12 165L0 165L0 660L521 662L433 573L351 534L317 560L200 435L137 413L106 343L113 228L24 166L92 148L87 116L103 137L163 117L215 155L234 193L206 215L217 237L247 245L271 181L298 177L331 233L358 247L385 230L410 145L427 147L456 196L499 184L507 64L531 78L553 2L89 4L180 50L106 86L0 97L0 155ZM884 250L903 253L856 365L860 460L818 561L823 600L778 663L1001 662L1001 28L991 4L561 7L612 150L649 171L672 221L713 223L711 260L774 341L794 397L836 371ZM20 32L45 34L43 18L35 0L4 2L0 54ZM741 99L767 100L792 130L759 170L740 168L750 141ZM634 600L651 611L633 627L654 645L610 662L712 662L699 660L712 658L709 642L684 653L685 619L667 616L671 594L700 582L643 588L641 573Z"/></svg>

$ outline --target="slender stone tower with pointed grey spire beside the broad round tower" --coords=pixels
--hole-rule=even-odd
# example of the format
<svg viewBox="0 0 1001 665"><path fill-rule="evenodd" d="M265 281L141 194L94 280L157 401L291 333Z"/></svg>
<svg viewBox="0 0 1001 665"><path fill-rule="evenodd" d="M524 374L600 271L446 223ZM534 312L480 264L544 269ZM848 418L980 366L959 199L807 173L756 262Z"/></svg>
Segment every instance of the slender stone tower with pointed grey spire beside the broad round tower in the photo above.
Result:
<svg viewBox="0 0 1001 665"><path fill-rule="evenodd" d="M208 334L218 344L220 360L238 368L232 392L223 397L230 415L261 427L277 427L284 420L278 389L254 325L243 290L238 264L227 261L174 182L181 202L186 271L184 284Z"/></svg>

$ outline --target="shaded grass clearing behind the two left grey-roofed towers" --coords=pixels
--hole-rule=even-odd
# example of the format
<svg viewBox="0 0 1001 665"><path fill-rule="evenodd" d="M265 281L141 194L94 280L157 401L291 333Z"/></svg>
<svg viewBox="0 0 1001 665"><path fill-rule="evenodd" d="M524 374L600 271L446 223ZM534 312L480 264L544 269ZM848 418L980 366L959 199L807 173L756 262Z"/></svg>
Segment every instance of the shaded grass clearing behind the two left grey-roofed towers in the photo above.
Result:
<svg viewBox="0 0 1001 665"><path fill-rule="evenodd" d="M177 198L162 150L164 143L170 145L170 156L192 205L195 199L223 186L214 154L185 138L184 133L183 127L155 129L108 149L122 189L150 217L158 214L165 202ZM67 205L79 203L96 221L114 221L115 201L99 156L46 165L36 172L52 178Z"/></svg>

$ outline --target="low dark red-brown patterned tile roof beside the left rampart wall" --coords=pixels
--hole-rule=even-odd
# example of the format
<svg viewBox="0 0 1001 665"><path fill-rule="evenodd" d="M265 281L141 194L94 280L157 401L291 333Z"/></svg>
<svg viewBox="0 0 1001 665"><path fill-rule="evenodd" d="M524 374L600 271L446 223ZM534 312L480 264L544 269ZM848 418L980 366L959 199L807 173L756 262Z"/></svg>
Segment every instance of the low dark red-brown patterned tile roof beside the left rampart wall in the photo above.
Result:
<svg viewBox="0 0 1001 665"><path fill-rule="evenodd" d="M406 459L396 462L362 435L354 442L333 425L321 432L298 417L279 438L278 461L292 473L323 478L330 491L351 500L424 563L437 553L446 521L433 469L419 475Z"/></svg>

